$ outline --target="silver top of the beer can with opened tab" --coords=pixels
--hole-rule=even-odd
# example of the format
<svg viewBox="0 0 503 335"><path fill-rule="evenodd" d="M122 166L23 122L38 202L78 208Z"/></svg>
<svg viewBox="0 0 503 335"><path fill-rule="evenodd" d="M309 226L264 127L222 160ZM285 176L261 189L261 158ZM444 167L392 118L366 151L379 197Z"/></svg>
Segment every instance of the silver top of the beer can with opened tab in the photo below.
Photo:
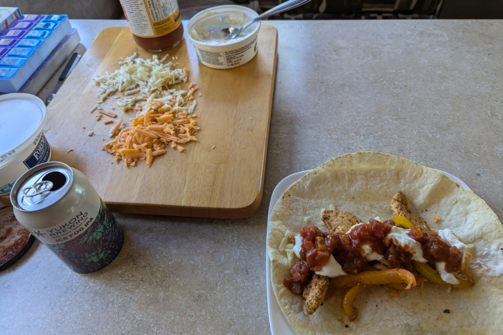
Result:
<svg viewBox="0 0 503 335"><path fill-rule="evenodd" d="M65 163L47 162L24 172L11 190L11 203L19 211L33 212L64 198L73 185L73 170Z"/></svg>

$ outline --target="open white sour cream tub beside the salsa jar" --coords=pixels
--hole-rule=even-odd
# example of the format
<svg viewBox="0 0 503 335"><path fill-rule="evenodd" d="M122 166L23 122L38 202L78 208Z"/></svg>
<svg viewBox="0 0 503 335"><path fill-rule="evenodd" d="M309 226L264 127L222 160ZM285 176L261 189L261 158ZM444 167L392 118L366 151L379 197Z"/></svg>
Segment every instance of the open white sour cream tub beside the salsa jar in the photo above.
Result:
<svg viewBox="0 0 503 335"><path fill-rule="evenodd" d="M204 65L232 69L248 63L257 53L260 21L247 27L237 39L225 39L223 28L242 27L259 16L243 6L218 6L195 15L187 25L187 36Z"/></svg>

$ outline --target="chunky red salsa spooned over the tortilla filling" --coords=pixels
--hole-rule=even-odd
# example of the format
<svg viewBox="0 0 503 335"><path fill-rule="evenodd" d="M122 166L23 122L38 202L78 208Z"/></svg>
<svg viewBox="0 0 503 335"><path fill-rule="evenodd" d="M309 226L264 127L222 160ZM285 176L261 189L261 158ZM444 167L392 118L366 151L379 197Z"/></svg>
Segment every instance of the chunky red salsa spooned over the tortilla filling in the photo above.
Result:
<svg viewBox="0 0 503 335"><path fill-rule="evenodd" d="M369 223L353 226L348 233L324 233L318 227L304 227L300 231L302 237L301 261L290 269L291 277L283 284L294 294L302 294L304 285L309 279L310 271L320 271L333 254L342 269L350 275L363 271L368 264L362 256L363 245L369 246L373 252L383 255L392 268L402 268L413 271L412 256L407 246L399 246L385 239L395 223L393 220L381 223L371 219ZM451 246L446 240L433 231L421 228L412 229L408 236L421 244L423 258L428 262L446 262L447 272L461 269L463 255L458 248Z"/></svg>

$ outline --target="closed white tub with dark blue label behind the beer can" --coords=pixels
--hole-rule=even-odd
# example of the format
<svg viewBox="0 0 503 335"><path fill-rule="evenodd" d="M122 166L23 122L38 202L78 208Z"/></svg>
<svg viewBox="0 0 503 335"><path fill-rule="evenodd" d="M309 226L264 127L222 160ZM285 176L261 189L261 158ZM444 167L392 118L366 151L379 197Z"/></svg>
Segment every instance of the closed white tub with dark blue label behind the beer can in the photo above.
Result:
<svg viewBox="0 0 503 335"><path fill-rule="evenodd" d="M45 105L36 96L0 96L0 196L10 193L21 174L51 158L42 132L46 122Z"/></svg>

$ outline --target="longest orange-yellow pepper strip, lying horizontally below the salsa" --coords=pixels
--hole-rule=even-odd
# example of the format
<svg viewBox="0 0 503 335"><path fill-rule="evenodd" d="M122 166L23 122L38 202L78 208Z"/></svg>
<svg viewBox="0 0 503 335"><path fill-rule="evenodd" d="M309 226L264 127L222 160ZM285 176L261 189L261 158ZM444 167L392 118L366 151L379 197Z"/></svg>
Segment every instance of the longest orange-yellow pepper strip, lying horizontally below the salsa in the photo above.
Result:
<svg viewBox="0 0 503 335"><path fill-rule="evenodd" d="M330 286L334 286L336 288L354 287L357 285L385 285L400 283L405 284L405 290L408 291L416 286L416 278L412 272L404 269L360 272L358 275L330 278Z"/></svg>

